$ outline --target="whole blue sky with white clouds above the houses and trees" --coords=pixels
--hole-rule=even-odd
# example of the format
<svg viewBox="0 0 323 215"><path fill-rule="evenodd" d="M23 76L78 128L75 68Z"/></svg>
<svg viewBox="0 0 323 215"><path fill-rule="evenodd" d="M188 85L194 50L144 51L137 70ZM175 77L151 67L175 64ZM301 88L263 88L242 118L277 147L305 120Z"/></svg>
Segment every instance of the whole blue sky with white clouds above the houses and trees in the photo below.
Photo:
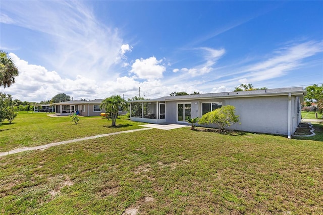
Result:
<svg viewBox="0 0 323 215"><path fill-rule="evenodd" d="M323 84L321 1L1 1L14 99Z"/></svg>

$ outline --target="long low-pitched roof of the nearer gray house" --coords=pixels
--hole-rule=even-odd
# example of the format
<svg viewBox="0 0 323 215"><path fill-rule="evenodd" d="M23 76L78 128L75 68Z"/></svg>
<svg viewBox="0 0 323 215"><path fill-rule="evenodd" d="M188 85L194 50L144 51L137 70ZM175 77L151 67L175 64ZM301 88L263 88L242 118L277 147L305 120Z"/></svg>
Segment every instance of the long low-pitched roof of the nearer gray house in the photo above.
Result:
<svg viewBox="0 0 323 215"><path fill-rule="evenodd" d="M291 93L292 95L303 97L306 94L306 91L303 89L303 87L289 87L289 88L277 88L277 89L266 89L266 90L164 96L157 99L135 100L135 101L128 101L128 102L197 100L197 99L208 99L208 98L233 98L233 97L261 97L261 96L274 96L274 95L288 95L289 93Z"/></svg>

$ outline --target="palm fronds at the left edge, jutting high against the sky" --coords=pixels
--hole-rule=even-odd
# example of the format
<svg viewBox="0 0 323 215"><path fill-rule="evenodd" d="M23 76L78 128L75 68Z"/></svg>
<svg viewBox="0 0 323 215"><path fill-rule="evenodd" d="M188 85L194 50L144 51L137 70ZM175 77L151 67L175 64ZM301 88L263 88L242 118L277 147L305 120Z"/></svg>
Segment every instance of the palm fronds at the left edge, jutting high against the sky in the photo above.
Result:
<svg viewBox="0 0 323 215"><path fill-rule="evenodd" d="M12 59L8 58L6 52L0 50L0 86L10 87L11 84L15 83L15 76L18 75L18 68Z"/></svg>

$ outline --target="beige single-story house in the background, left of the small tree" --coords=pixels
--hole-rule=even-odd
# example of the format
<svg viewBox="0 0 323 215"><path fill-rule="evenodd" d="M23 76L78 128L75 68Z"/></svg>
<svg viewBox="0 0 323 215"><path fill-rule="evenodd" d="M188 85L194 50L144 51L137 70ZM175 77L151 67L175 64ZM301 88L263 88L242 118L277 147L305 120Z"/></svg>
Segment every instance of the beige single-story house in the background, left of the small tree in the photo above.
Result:
<svg viewBox="0 0 323 215"><path fill-rule="evenodd" d="M105 113L104 110L100 109L100 105L103 99L95 99L90 101L73 100L64 101L59 103L52 103L56 107L56 115L66 116L74 114L76 111L79 115L91 117L100 116L100 113Z"/></svg>

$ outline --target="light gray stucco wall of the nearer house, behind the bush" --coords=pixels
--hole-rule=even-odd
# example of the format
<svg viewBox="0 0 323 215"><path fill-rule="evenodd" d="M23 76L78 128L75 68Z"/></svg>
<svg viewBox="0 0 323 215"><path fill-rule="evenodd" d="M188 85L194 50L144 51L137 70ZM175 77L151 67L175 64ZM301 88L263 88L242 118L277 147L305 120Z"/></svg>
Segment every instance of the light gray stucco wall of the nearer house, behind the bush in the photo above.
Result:
<svg viewBox="0 0 323 215"><path fill-rule="evenodd" d="M288 96L263 96L244 98L224 98L207 100L167 101L166 122L177 123L177 103L191 102L192 118L201 117L201 102L222 102L222 105L233 105L236 107L236 114L240 116L240 123L230 128L234 130L283 134L288 133ZM195 102L198 102L196 105ZM291 111L292 125L291 132L295 131L299 120L297 115L297 97L292 96Z"/></svg>

